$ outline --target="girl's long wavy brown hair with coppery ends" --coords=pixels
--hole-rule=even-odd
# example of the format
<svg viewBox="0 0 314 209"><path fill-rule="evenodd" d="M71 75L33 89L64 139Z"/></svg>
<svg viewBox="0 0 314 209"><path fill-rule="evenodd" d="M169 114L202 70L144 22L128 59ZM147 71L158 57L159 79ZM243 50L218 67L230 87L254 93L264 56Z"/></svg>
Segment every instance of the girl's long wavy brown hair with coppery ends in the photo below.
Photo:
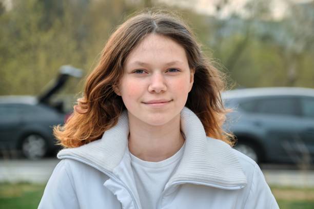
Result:
<svg viewBox="0 0 314 209"><path fill-rule="evenodd" d="M121 96L114 93L124 71L124 62L131 50L150 33L173 39L186 51L194 83L186 107L202 121L206 135L232 145L233 136L222 129L225 115L221 94L225 88L222 73L204 57L195 35L180 17L165 11L141 12L124 22L110 36L99 64L89 74L82 98L64 126L53 129L57 144L65 148L80 147L100 139L115 126L126 109Z"/></svg>

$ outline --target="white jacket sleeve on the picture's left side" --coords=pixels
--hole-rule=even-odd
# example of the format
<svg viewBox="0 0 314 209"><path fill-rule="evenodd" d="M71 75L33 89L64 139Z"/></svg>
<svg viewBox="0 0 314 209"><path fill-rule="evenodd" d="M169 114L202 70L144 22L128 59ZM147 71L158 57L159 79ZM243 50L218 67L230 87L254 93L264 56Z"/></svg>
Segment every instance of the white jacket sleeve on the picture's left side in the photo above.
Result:
<svg viewBox="0 0 314 209"><path fill-rule="evenodd" d="M55 166L38 208L80 208L67 167L66 159Z"/></svg>

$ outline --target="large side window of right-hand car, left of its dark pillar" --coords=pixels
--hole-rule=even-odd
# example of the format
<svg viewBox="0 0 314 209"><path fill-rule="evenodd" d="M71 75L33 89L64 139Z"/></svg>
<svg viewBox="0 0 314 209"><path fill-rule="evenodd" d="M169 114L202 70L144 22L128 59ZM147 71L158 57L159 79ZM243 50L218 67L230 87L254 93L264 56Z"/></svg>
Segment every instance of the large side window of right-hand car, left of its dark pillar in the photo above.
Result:
<svg viewBox="0 0 314 209"><path fill-rule="evenodd" d="M294 97L267 97L258 99L257 112L270 115L298 115Z"/></svg>

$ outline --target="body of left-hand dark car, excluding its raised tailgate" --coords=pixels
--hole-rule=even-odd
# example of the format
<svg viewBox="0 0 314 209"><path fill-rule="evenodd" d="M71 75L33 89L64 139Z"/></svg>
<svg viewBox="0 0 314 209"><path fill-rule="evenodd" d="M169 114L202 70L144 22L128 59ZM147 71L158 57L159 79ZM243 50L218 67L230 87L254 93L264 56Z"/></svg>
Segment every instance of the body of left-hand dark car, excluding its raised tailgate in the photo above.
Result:
<svg viewBox="0 0 314 209"><path fill-rule="evenodd" d="M56 149L52 126L64 123L65 114L38 103L33 97L0 97L0 150L42 158ZM4 153L3 153L4 154Z"/></svg>

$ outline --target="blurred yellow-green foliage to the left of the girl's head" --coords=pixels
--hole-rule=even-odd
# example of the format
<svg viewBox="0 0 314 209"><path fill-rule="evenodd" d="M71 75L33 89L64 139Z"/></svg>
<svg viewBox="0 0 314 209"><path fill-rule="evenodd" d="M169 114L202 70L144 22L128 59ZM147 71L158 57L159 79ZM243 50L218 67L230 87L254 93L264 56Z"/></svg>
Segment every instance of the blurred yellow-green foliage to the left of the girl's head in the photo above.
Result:
<svg viewBox="0 0 314 209"><path fill-rule="evenodd" d="M17 0L0 16L0 94L38 94L62 65L89 70L113 25L121 21L123 1ZM23 14L23 15L21 15ZM75 93L80 86L68 87Z"/></svg>

